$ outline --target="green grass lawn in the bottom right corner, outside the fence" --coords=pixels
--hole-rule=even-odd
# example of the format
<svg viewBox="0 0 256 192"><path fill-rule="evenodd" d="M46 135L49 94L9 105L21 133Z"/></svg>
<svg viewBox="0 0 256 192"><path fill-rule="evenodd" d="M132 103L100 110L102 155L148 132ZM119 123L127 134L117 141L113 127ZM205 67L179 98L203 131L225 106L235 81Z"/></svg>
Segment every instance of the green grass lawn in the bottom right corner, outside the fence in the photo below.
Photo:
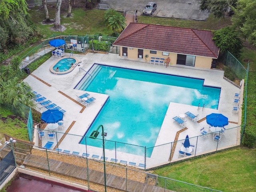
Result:
<svg viewBox="0 0 256 192"><path fill-rule="evenodd" d="M233 148L154 170L154 174L180 180L224 192L256 191L256 148ZM158 183L164 186L164 180ZM177 182L174 182L177 184ZM183 189L178 184L172 190L178 192L198 191Z"/></svg>

